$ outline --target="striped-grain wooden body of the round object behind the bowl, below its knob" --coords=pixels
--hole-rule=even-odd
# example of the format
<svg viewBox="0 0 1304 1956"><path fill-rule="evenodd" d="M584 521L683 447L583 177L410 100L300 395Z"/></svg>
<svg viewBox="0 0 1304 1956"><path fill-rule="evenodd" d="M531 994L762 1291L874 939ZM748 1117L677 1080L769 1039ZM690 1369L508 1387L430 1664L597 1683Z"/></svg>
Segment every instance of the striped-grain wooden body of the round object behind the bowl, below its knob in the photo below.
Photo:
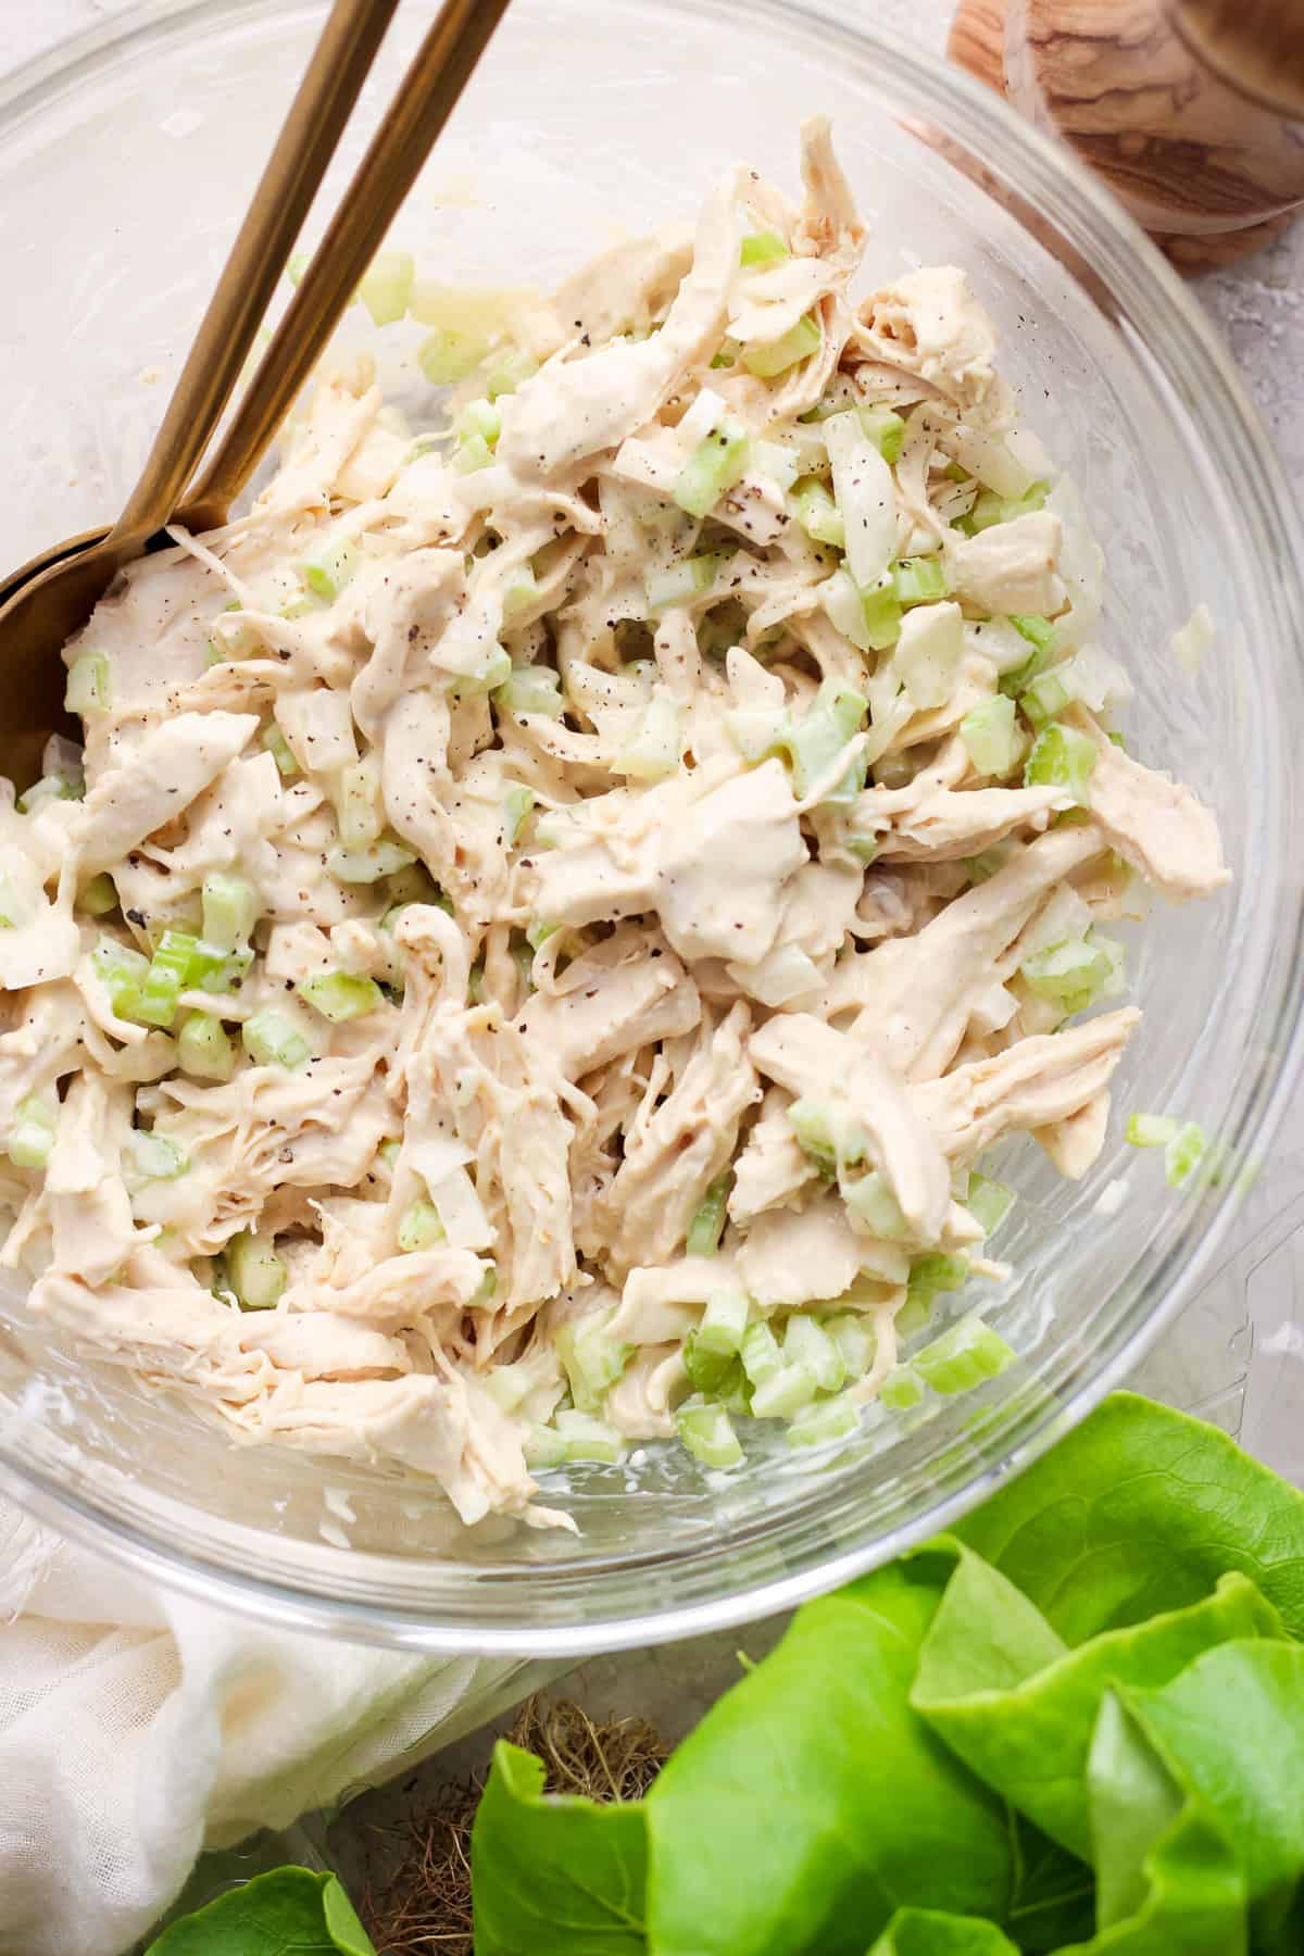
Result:
<svg viewBox="0 0 1304 1956"><path fill-rule="evenodd" d="M1300 0L1271 4L1304 23ZM1257 250L1304 201L1304 123L1210 68L1167 0L962 0L948 53L1071 143L1183 270Z"/></svg>

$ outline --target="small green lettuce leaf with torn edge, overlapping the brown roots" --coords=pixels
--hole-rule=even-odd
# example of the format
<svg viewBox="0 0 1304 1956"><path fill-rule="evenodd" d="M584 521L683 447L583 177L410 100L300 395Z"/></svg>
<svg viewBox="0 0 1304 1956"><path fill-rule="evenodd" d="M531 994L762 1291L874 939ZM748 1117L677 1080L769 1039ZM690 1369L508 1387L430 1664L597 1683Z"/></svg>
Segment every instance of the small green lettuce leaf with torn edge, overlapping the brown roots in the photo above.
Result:
<svg viewBox="0 0 1304 1956"><path fill-rule="evenodd" d="M645 1805L543 1794L500 1739L471 1831L475 1956L643 1956Z"/></svg>

